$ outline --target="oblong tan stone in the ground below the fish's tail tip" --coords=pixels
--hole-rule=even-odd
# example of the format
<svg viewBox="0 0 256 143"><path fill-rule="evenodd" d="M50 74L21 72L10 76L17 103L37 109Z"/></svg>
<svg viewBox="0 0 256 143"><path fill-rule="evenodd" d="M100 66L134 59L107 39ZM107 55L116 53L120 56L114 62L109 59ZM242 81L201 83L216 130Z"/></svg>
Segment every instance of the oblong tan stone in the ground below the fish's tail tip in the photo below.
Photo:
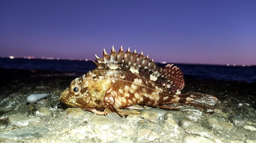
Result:
<svg viewBox="0 0 256 143"><path fill-rule="evenodd" d="M232 123L218 121L217 119L208 119L207 125L210 129L222 132L231 131L234 128Z"/></svg>

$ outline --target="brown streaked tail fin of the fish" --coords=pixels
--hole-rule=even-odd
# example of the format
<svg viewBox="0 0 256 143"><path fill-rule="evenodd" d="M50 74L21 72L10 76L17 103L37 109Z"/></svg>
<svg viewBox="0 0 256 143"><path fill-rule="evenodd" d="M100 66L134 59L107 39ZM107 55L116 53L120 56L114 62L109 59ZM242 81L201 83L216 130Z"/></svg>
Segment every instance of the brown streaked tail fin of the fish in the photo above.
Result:
<svg viewBox="0 0 256 143"><path fill-rule="evenodd" d="M215 96L208 94L193 92L181 94L179 96L183 99L185 98L183 103L192 105L209 113L214 112L218 104L218 99Z"/></svg>

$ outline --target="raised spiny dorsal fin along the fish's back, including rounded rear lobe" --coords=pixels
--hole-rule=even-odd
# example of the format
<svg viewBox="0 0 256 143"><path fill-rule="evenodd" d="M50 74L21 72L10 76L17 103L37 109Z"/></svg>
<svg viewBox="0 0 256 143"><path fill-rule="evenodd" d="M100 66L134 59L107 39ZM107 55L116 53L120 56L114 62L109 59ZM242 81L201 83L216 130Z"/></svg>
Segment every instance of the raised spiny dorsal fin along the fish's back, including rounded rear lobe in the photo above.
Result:
<svg viewBox="0 0 256 143"><path fill-rule="evenodd" d="M110 55L103 50L103 59L97 55L97 62L94 62L98 67L111 67L115 66L126 66L138 70L144 70L151 74L152 79L156 82L160 82L164 87L170 89L173 92L182 90L184 87L184 79L182 71L173 65L166 65L164 68L159 68L154 63L153 59L150 60L147 56L143 55L143 52L138 54L136 50L131 52L130 48L124 52L122 46L118 52L115 51L114 46L112 47Z"/></svg>

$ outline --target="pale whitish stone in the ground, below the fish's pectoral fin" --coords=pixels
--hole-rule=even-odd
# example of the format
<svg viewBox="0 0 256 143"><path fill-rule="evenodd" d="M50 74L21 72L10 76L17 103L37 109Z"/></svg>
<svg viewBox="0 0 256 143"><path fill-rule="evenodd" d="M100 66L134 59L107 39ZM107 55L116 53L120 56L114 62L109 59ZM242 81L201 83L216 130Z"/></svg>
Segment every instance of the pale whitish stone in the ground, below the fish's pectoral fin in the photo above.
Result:
<svg viewBox="0 0 256 143"><path fill-rule="evenodd" d="M113 120L104 116L91 116L88 122L95 130L111 130L115 123Z"/></svg>

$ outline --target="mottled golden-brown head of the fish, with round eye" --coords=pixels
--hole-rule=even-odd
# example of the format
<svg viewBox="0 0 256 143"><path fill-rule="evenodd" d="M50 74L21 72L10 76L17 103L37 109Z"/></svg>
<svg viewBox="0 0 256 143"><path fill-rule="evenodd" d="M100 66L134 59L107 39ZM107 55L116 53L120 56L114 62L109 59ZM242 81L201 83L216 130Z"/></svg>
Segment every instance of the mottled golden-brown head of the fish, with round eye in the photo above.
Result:
<svg viewBox="0 0 256 143"><path fill-rule="evenodd" d="M110 83L110 80L93 77L90 73L85 74L74 79L58 100L62 104L82 109L101 107Z"/></svg>

